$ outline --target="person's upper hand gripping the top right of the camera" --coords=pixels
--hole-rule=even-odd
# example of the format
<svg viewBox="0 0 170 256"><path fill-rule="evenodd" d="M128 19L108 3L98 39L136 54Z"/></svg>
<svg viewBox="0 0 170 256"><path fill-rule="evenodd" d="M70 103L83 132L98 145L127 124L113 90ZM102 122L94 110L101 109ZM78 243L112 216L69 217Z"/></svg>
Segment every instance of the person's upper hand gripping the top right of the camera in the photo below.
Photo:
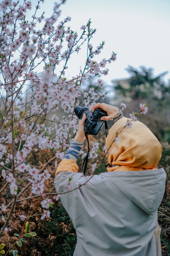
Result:
<svg viewBox="0 0 170 256"><path fill-rule="evenodd" d="M97 108L101 108L102 110L107 112L108 116L102 116L100 118L101 120L104 120L104 121L111 120L119 114L119 108L117 108L116 106L106 104L106 103L97 103L97 104L95 104L92 107L91 111L93 112Z"/></svg>

